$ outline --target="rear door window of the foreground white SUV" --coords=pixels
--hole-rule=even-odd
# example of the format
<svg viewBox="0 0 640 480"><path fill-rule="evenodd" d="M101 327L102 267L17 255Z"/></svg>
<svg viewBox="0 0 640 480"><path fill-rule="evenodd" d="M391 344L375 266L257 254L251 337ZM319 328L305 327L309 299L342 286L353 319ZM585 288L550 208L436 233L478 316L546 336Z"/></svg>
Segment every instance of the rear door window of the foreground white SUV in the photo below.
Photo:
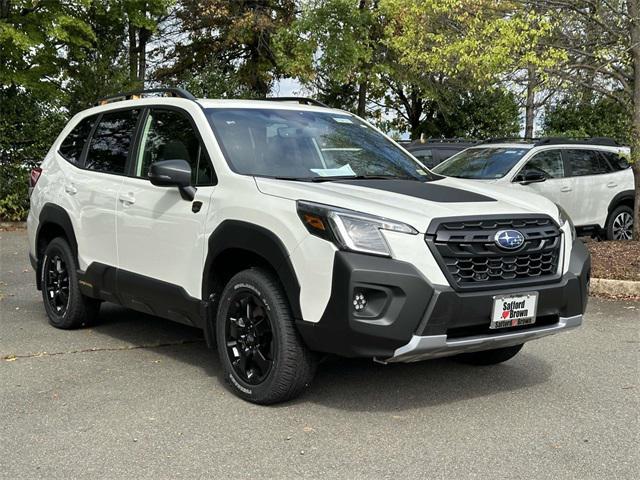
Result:
<svg viewBox="0 0 640 480"><path fill-rule="evenodd" d="M124 175L139 110L105 113L96 127L85 168Z"/></svg>

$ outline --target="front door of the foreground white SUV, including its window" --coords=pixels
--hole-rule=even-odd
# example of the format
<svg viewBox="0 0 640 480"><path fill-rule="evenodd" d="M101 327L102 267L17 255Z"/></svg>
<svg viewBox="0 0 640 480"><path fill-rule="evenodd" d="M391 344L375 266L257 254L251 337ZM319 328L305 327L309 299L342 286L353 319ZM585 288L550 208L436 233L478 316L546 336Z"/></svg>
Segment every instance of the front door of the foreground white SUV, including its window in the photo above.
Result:
<svg viewBox="0 0 640 480"><path fill-rule="evenodd" d="M182 109L148 109L139 139L117 202L119 289L122 295L131 295L125 303L149 306L157 304L158 289L169 294L183 289L200 298L207 241L204 224L216 183L211 161L190 114ZM184 200L178 188L158 187L147 178L152 163L176 159L186 160L192 168L192 185L197 188L193 201ZM150 283L141 288L140 282ZM153 313L182 321L167 312Z"/></svg>

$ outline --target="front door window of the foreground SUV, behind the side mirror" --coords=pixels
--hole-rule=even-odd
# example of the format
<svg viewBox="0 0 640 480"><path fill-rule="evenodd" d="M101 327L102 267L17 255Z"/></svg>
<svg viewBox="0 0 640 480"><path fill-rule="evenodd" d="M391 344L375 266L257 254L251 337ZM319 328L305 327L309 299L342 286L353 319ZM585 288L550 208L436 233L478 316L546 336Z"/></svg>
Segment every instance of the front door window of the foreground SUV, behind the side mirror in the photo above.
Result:
<svg viewBox="0 0 640 480"><path fill-rule="evenodd" d="M136 177L146 178L149 167L162 160L185 160L191 165L193 185L215 183L211 160L186 115L153 109L142 132Z"/></svg>

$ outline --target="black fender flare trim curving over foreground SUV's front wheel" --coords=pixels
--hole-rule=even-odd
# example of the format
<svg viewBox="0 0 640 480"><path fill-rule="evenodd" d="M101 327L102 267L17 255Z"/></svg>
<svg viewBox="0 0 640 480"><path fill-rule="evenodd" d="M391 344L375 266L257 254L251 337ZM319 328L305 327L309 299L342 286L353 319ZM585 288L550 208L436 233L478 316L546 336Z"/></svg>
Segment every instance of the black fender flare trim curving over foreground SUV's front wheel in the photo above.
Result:
<svg viewBox="0 0 640 480"><path fill-rule="evenodd" d="M300 284L289 259L289 252L270 230L240 220L223 221L209 236L208 253L202 276L202 299L206 300L213 291L216 259L229 249L242 249L262 257L277 273L284 287L291 313L302 319L300 308Z"/></svg>

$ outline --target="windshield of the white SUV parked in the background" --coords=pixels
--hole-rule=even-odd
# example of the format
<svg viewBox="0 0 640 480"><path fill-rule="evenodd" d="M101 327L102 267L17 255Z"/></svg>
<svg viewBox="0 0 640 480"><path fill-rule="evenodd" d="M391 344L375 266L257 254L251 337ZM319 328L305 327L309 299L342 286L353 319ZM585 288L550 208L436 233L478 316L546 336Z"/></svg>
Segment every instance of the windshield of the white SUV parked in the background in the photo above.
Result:
<svg viewBox="0 0 640 480"><path fill-rule="evenodd" d="M526 148L468 148L433 169L448 177L491 180L504 177L528 152Z"/></svg>

